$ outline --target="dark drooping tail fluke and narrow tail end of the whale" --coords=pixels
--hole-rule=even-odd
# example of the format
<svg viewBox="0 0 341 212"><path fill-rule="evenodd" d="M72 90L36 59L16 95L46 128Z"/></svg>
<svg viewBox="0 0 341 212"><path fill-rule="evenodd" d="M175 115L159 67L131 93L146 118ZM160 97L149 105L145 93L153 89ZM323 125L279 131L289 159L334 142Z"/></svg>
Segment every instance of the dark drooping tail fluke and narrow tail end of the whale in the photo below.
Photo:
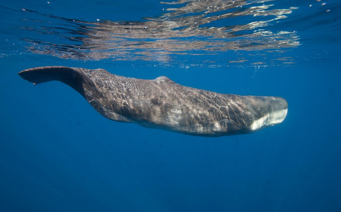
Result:
<svg viewBox="0 0 341 212"><path fill-rule="evenodd" d="M33 85L49 81L60 81L69 85L84 96L83 82L85 80L85 75L80 72L79 68L44 66L25 69L18 74L27 81L33 83Z"/></svg>

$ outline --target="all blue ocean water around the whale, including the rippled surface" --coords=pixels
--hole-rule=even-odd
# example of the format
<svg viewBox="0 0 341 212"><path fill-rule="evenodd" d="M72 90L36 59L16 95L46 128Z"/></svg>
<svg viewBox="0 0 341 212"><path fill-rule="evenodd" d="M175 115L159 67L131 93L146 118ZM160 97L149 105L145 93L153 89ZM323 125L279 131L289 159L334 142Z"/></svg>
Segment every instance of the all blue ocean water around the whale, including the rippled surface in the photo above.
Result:
<svg viewBox="0 0 341 212"><path fill-rule="evenodd" d="M341 211L340 9L2 1L0 211ZM288 115L218 138L114 122L60 82L17 75L49 65L281 96Z"/></svg>

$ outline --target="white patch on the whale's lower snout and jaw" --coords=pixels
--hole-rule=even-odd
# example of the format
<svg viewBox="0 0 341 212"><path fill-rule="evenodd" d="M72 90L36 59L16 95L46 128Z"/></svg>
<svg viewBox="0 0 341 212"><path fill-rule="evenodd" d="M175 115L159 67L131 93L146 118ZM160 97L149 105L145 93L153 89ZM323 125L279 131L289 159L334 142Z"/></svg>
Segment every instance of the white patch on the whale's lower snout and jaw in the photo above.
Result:
<svg viewBox="0 0 341 212"><path fill-rule="evenodd" d="M256 119L254 122L252 122L249 129L255 131L266 126L279 124L285 119L287 112L288 109L283 109L268 113L265 116Z"/></svg>

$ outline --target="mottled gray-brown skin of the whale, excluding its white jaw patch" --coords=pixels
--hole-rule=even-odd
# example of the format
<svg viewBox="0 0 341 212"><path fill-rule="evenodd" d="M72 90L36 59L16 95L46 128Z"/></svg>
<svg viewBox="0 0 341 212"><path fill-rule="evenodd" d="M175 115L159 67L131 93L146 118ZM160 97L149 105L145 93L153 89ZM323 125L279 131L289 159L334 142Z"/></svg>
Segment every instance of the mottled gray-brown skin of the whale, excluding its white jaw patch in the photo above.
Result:
<svg viewBox="0 0 341 212"><path fill-rule="evenodd" d="M221 94L182 86L165 76L136 79L104 69L61 66L26 69L19 75L34 84L68 84L108 119L194 136L251 133L254 120L287 109L280 97Z"/></svg>

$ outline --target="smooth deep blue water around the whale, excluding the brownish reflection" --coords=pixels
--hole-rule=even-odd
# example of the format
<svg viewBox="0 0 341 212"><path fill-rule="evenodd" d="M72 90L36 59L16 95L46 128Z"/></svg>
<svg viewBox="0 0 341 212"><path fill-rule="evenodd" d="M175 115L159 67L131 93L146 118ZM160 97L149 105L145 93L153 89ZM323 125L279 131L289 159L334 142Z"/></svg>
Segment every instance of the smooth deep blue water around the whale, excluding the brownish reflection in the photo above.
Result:
<svg viewBox="0 0 341 212"><path fill-rule="evenodd" d="M329 28L311 29L313 18L287 26L302 29L291 66L144 67L139 61L29 54L8 43L19 42L10 27L20 18L4 20L6 11L21 14L9 8L46 7L62 17L73 8L72 17L139 20L164 7L151 0L129 6L72 2L52 11L54 2L44 1L1 7L0 211L341 211L340 42L332 39L340 27L330 30L334 21L325 23ZM324 52L332 59L318 59ZM307 55L318 58L309 63ZM281 96L288 115L256 133L219 138L114 122L64 84L32 86L17 75L45 65L104 68L136 78L165 75L221 93Z"/></svg>

